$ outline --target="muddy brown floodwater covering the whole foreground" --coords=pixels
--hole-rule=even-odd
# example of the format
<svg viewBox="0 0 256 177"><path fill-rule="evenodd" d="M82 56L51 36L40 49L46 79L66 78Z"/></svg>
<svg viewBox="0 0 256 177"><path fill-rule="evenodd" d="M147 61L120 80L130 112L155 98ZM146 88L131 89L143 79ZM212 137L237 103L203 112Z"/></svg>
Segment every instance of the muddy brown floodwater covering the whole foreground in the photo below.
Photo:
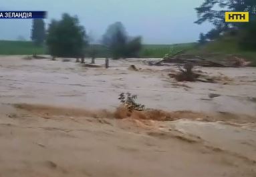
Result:
<svg viewBox="0 0 256 177"><path fill-rule="evenodd" d="M143 60L0 56L0 176L256 176L256 69L176 82ZM122 92L149 109L127 116Z"/></svg>

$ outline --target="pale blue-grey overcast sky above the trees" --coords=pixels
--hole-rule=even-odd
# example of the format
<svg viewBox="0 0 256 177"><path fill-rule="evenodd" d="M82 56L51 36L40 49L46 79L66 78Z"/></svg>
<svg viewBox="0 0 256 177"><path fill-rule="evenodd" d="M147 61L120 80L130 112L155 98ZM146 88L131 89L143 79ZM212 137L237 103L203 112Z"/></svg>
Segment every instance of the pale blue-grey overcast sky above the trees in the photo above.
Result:
<svg viewBox="0 0 256 177"><path fill-rule="evenodd" d="M99 39L111 23L122 21L129 35L142 35L148 44L197 41L211 25L197 25L195 7L204 0L1 0L1 11L48 11L50 19L62 13L78 15L86 31ZM29 39L31 19L0 19L0 39Z"/></svg>

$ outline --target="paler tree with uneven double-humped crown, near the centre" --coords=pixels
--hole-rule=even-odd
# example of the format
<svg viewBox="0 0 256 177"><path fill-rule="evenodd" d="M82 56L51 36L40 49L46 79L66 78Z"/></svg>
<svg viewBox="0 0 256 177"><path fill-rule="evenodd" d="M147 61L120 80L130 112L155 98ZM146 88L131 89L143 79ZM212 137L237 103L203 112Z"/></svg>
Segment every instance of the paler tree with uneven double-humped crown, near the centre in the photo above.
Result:
<svg viewBox="0 0 256 177"><path fill-rule="evenodd" d="M138 57L141 49L141 37L128 37L124 25L116 22L110 25L102 36L102 43L114 58Z"/></svg>

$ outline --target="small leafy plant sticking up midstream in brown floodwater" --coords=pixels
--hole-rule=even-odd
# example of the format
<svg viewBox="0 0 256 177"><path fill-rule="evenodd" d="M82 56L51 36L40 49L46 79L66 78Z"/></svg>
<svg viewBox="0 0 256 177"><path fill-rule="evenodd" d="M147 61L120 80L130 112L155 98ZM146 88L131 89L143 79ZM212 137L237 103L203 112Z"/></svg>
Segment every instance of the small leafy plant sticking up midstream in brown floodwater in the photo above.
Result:
<svg viewBox="0 0 256 177"><path fill-rule="evenodd" d="M129 112L133 112L134 110L136 111L143 111L145 109L145 106L142 104L137 104L135 101L137 99L136 95L132 95L129 92L124 94L120 94L120 97L118 100L120 100L121 104L123 104Z"/></svg>

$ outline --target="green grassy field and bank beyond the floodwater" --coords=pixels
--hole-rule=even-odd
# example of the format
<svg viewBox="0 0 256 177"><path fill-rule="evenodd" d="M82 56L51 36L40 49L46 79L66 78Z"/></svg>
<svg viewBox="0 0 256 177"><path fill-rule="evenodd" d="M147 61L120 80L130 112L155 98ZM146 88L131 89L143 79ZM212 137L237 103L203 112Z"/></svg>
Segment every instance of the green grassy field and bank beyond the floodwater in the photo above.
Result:
<svg viewBox="0 0 256 177"><path fill-rule="evenodd" d="M97 57L106 57L107 51L103 45L95 45L98 51ZM140 57L162 58L166 53L185 51L189 54L203 55L205 53L219 53L223 55L233 54L253 61L256 66L256 51L243 51L232 37L223 37L211 41L203 46L197 43L181 43L173 45L143 45ZM37 55L47 54L45 47L36 47L31 41L0 41L0 55ZM221 55L218 55L221 56ZM88 57L88 55L87 55Z"/></svg>

